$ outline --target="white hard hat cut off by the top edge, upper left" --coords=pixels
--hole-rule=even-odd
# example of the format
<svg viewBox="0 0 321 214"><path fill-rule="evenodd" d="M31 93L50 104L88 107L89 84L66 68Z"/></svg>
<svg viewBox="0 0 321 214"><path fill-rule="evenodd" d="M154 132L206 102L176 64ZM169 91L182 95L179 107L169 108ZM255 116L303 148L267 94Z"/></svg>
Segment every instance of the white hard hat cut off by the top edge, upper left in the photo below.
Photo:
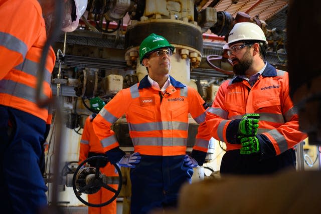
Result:
<svg viewBox="0 0 321 214"><path fill-rule="evenodd" d="M80 17L85 13L87 8L87 0L73 0L76 6L76 20L72 20L71 13L67 13L65 20L63 21L63 28L61 29L64 32L73 32L77 29L79 24ZM71 10L72 11L72 10Z"/></svg>

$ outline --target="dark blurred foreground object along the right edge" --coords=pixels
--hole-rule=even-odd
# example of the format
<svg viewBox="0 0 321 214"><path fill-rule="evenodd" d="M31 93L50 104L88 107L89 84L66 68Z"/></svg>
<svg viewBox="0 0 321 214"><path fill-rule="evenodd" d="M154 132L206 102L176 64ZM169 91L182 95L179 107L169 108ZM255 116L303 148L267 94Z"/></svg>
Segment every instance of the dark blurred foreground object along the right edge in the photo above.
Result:
<svg viewBox="0 0 321 214"><path fill-rule="evenodd" d="M318 63L321 45L317 42L321 14L315 10L317 4L316 0L308 4L290 1L287 19L290 96L298 110L299 128L308 134L312 145L321 144L321 64ZM297 40L306 35L313 42L312 48Z"/></svg>

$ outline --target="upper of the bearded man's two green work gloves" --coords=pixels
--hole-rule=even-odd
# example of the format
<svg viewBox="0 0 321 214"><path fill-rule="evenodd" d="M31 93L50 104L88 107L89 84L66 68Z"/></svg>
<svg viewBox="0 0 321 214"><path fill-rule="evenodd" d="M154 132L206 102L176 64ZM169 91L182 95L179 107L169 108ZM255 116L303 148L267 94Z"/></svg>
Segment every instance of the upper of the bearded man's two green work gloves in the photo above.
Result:
<svg viewBox="0 0 321 214"><path fill-rule="evenodd" d="M242 117L239 123L238 134L241 136L255 136L259 127L259 118L259 114L247 114Z"/></svg>

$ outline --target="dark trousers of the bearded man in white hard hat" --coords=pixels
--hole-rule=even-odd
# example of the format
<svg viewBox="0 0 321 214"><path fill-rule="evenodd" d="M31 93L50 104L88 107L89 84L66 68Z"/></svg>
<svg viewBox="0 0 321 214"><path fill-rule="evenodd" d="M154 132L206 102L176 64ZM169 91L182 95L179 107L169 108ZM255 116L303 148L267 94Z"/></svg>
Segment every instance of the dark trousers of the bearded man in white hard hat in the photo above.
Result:
<svg viewBox="0 0 321 214"><path fill-rule="evenodd" d="M221 163L220 172L224 174L271 174L284 169L295 170L295 151L288 149L285 152L260 160L259 154L240 154L240 150L227 151Z"/></svg>

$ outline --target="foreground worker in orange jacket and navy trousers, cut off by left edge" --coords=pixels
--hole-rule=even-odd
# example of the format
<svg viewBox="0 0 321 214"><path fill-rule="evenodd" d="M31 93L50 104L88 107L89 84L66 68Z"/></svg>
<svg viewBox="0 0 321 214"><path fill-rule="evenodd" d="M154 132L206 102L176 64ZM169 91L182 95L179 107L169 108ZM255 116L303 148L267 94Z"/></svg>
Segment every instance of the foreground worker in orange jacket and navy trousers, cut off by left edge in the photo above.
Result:
<svg viewBox="0 0 321 214"><path fill-rule="evenodd" d="M3 20L0 25L2 213L37 213L47 207L47 186L41 168L44 166L43 144L52 117L48 107L37 105L36 88L37 71L47 40L43 17L53 13L55 2L0 1L0 19ZM50 99L51 73L56 60L52 48L46 57L41 94Z"/></svg>

